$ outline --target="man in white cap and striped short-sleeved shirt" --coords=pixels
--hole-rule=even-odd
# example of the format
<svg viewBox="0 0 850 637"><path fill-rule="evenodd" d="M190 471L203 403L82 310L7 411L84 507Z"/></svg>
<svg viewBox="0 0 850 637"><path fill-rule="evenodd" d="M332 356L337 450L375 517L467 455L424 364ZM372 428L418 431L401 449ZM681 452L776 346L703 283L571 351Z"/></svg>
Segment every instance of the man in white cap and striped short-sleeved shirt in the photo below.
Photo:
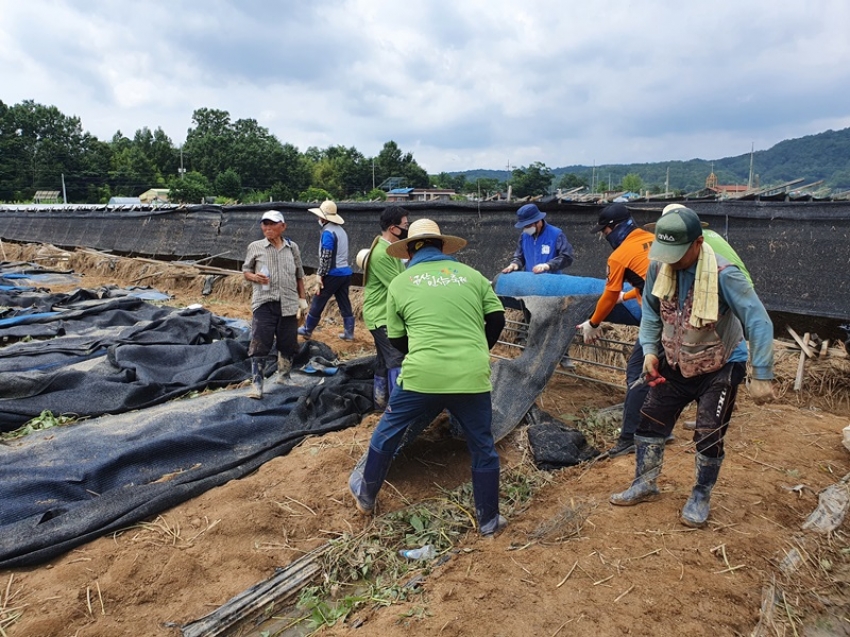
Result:
<svg viewBox="0 0 850 637"><path fill-rule="evenodd" d="M289 377L298 352L298 320L307 310L304 268L298 245L284 238L286 223L277 210L260 220L264 239L248 245L242 275L253 284L251 294L251 398L263 397L263 379L272 345L277 341L278 381Z"/></svg>

